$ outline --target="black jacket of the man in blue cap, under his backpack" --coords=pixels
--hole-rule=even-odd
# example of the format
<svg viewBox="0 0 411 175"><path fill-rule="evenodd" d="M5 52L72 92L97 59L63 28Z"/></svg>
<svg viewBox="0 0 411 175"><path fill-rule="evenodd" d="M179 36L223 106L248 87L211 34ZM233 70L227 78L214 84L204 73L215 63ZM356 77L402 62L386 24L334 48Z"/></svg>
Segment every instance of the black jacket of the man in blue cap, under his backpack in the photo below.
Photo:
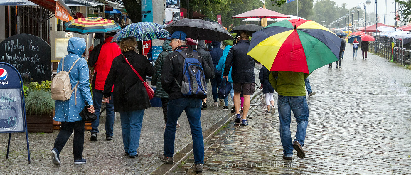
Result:
<svg viewBox="0 0 411 175"><path fill-rule="evenodd" d="M193 50L189 49L187 45L181 45L175 48L174 50L181 49L188 55L192 56ZM211 69L208 64L205 62L202 55L199 53L197 59L199 60L201 66L203 67L205 78L211 77ZM183 69L184 66L184 57L177 51L173 51L167 55L166 60L164 60L163 71L161 74L161 84L164 91L170 95L169 99L178 99L178 98L199 98L204 99L198 95L188 95L185 96L181 93L181 87L178 87L177 83L181 86L183 79ZM177 82L174 80L177 80Z"/></svg>

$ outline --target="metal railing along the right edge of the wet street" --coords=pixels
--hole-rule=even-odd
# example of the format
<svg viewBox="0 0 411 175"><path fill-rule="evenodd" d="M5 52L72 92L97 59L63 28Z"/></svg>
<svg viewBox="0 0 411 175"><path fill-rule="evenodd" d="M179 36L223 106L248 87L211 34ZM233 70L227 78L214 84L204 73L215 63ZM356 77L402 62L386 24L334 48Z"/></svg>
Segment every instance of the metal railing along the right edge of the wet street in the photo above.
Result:
<svg viewBox="0 0 411 175"><path fill-rule="evenodd" d="M398 62L400 64L403 64L404 66L406 64L410 64L411 60L411 50L408 48L402 48L399 47L399 44L395 44L396 47L394 48L394 54L392 53L392 48L391 45L386 45L387 42L376 39L374 42L369 42L368 48L369 52L374 53L375 55L378 55L382 58L386 58L388 60L391 60L393 58L394 62Z"/></svg>

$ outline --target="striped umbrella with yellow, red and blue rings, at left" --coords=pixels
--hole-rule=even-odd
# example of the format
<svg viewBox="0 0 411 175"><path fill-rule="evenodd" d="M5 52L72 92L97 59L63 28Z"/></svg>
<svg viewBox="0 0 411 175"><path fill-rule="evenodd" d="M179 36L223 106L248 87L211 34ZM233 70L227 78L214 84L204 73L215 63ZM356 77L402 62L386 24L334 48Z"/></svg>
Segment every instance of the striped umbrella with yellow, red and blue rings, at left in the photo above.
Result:
<svg viewBox="0 0 411 175"><path fill-rule="evenodd" d="M121 30L113 20L103 18L79 18L73 19L66 24L66 32L74 32L82 35L90 33L110 33Z"/></svg>

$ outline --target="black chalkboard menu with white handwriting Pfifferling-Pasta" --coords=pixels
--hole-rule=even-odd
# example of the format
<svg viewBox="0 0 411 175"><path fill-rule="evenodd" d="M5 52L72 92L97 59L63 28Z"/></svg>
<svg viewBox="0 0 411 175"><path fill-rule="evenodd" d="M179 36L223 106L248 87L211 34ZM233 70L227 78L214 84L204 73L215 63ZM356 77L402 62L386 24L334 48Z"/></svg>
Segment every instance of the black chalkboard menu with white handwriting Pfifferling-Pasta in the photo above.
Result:
<svg viewBox="0 0 411 175"><path fill-rule="evenodd" d="M15 67L24 82L51 80L51 47L34 35L18 34L3 40L0 62Z"/></svg>

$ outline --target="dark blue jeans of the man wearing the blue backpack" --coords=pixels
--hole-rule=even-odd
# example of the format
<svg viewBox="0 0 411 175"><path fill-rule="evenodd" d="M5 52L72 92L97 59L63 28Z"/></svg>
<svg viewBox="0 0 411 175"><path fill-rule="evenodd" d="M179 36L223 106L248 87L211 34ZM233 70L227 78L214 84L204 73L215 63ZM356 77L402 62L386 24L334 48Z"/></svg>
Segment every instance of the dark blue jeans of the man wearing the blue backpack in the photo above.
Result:
<svg viewBox="0 0 411 175"><path fill-rule="evenodd" d="M204 140L201 131L201 99L179 98L169 100L167 110L167 124L164 130L164 155L173 157L175 127L178 117L185 111L190 124L191 136L193 139L194 163L204 163Z"/></svg>

